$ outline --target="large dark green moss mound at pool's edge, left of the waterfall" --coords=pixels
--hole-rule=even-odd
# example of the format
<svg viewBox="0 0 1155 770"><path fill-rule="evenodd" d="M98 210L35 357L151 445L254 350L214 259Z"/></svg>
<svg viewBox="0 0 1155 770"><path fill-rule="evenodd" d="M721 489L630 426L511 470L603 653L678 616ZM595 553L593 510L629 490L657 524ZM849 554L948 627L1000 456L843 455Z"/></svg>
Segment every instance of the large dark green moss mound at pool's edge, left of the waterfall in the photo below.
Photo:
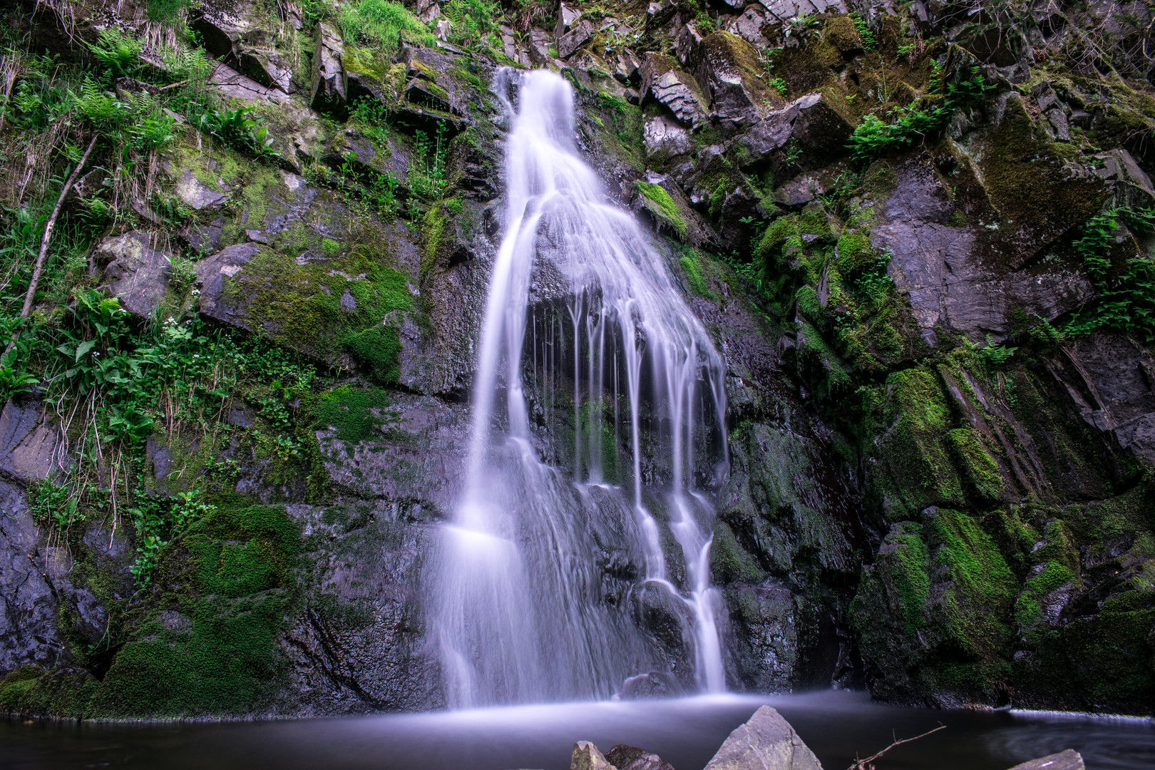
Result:
<svg viewBox="0 0 1155 770"><path fill-rule="evenodd" d="M218 507L165 555L163 612L141 623L92 698L96 717L246 716L282 686L300 525L281 507ZM182 618L172 623L171 618Z"/></svg>

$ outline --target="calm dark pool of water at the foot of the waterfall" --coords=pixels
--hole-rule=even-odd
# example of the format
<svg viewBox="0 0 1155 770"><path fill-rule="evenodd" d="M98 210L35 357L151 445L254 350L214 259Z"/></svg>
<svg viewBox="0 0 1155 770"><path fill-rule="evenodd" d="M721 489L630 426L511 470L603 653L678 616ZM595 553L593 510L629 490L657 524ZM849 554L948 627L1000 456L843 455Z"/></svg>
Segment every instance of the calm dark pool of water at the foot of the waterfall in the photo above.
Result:
<svg viewBox="0 0 1155 770"><path fill-rule="evenodd" d="M762 703L777 709L822 761L946 730L887 754L880 770L1005 770L1075 748L1090 770L1155 768L1149 720L1070 715L930 711L863 694L720 696L483 711L239 724L75 725L0 722L0 770L567 770L575 740L632 743L678 770L699 770Z"/></svg>

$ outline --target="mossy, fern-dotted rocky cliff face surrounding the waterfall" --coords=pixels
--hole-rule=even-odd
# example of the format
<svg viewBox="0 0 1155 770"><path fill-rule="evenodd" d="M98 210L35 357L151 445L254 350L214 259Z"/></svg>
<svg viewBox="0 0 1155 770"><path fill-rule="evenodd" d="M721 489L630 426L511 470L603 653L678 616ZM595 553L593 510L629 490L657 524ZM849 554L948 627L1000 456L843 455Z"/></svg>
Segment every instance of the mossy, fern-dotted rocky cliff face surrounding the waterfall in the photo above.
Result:
<svg viewBox="0 0 1155 770"><path fill-rule="evenodd" d="M1149 712L1145 7L7 20L6 335L52 175L104 140L0 359L0 708L442 705L419 575L460 489L508 66L572 82L580 145L725 357L730 686ZM675 620L641 614L684 674Z"/></svg>

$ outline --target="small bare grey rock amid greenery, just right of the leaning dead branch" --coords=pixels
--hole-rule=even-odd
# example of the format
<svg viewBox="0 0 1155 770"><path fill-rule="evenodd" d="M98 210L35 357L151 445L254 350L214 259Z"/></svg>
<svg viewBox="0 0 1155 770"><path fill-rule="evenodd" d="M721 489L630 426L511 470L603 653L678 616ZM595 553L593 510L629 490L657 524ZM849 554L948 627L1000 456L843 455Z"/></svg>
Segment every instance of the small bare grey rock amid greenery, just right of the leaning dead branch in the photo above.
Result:
<svg viewBox="0 0 1155 770"><path fill-rule="evenodd" d="M172 255L152 248L152 238L133 230L100 242L94 253L104 268L104 282L120 306L133 315L152 315L172 278Z"/></svg>

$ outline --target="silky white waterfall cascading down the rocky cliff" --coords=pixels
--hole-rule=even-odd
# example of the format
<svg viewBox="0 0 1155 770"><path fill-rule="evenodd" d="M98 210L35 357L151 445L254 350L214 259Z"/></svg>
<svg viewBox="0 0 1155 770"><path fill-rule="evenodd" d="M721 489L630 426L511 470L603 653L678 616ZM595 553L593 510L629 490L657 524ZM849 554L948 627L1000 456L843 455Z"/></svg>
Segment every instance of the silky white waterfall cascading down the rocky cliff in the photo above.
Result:
<svg viewBox="0 0 1155 770"><path fill-rule="evenodd" d="M433 581L447 701L604 698L662 670L669 656L638 612L649 591L680 607L698 688L721 691L713 504L695 481L724 472L722 360L663 257L579 157L569 84L515 77L498 79L507 207L467 488ZM677 546L680 569L668 565ZM628 554L633 573L608 553ZM605 586L614 570L631 581L624 600Z"/></svg>

